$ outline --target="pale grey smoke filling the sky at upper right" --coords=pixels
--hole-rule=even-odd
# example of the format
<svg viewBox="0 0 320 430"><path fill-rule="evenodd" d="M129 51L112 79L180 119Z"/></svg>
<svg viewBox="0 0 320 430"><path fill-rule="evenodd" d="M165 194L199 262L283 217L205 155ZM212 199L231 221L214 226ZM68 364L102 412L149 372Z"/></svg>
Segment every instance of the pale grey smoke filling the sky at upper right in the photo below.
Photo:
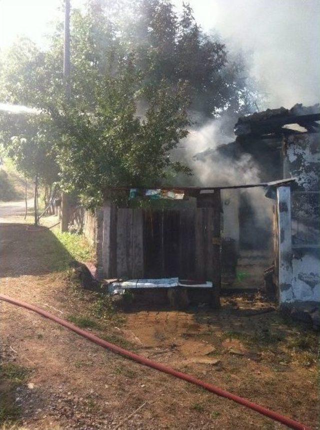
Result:
<svg viewBox="0 0 320 430"><path fill-rule="evenodd" d="M268 108L320 100L318 0L190 0L205 31L232 51L250 51L251 75L263 81ZM177 8L181 0L175 0Z"/></svg>

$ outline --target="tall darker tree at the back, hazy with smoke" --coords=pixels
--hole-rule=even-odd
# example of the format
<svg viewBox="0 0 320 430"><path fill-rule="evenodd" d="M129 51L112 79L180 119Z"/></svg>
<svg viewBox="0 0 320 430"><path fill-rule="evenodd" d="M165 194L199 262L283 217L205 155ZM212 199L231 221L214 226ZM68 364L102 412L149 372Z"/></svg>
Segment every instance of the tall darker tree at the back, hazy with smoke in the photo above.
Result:
<svg viewBox="0 0 320 430"><path fill-rule="evenodd" d="M91 3L111 15L125 52L136 57L144 85L154 87L162 79L172 86L187 82L189 110L204 120L221 112L242 115L255 109L257 94L249 97L252 83L243 57L232 58L220 38L206 34L188 4L177 15L166 0L122 0L121 13L107 0Z"/></svg>

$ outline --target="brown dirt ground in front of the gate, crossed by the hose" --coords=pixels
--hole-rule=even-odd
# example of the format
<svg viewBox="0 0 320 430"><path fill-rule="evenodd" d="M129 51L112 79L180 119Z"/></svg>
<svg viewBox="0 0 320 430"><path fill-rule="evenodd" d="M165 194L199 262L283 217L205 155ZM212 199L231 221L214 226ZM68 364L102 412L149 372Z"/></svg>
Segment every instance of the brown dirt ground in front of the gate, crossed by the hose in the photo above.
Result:
<svg viewBox="0 0 320 430"><path fill-rule="evenodd" d="M2 224L0 235L1 293L316 425L316 336L286 324L276 312L248 316L252 309L269 306L260 298L225 298L220 313L203 307L113 312L101 298L82 292L70 271L61 269L68 253L53 233ZM5 303L0 303L0 333L2 362L24 369L26 375L11 392L15 428L282 428ZM8 383L10 377L12 371L7 372Z"/></svg>

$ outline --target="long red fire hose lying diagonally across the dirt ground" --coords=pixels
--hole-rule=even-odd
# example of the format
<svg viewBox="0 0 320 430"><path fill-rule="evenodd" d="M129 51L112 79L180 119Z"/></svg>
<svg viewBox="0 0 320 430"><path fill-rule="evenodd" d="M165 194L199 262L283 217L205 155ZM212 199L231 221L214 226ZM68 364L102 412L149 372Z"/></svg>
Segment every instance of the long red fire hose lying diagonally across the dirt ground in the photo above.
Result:
<svg viewBox="0 0 320 430"><path fill-rule="evenodd" d="M175 376L176 378L183 379L184 381L190 382L192 384L198 385L210 392L213 392L219 396L229 398L230 400L235 401L236 403L242 404L243 406L246 406L250 409L255 410L256 412L261 413L262 415L268 416L269 418L274 419L275 421L279 421L282 424L287 425L290 428L295 428L297 430L311 430L309 427L307 427L304 424L301 424L300 422L294 421L294 419L288 418L286 416L283 416L277 412L273 412L272 410L269 410L263 406L260 406L258 404L255 404L245 398L239 397L235 394L232 394L228 391L222 390L221 388L216 387L215 385L208 384L204 381L201 381L200 379L195 378L192 375L188 375L187 373L178 372L177 370L174 370L170 367L165 366L161 363L156 363L152 360L149 360L148 358L144 358L141 355L134 354L133 352L127 351L126 349L120 348L119 346L113 345L112 343L106 342L105 340L100 339L97 336L94 336L93 334L81 330L80 328L76 327L75 325L62 320L61 318L56 317L55 315L50 314L49 312L43 311L40 308L37 308L36 306L29 305L28 303L21 302L20 300L12 299L11 297L4 296L0 294L0 300L3 300L5 302L11 303L12 305L20 306L22 308L28 309L30 311L36 312L39 315L42 315L45 318L49 318L52 321L55 321L58 324L61 324L62 326L68 328L69 330L74 331L75 333L79 334L80 336L85 337L86 339L89 339L91 342L96 343L97 345L102 346L103 348L109 349L110 351L123 355L126 358L130 358L131 360L134 360L140 364L143 364L145 366L151 367L153 369L159 370L160 372L167 373L169 375Z"/></svg>

